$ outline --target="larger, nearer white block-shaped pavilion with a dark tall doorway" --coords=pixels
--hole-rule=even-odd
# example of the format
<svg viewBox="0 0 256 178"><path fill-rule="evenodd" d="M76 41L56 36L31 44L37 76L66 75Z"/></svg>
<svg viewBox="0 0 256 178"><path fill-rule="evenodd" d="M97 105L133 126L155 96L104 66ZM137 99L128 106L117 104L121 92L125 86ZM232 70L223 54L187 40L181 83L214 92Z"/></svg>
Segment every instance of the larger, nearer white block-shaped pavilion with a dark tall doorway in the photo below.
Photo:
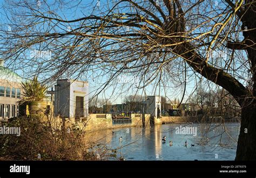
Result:
<svg viewBox="0 0 256 178"><path fill-rule="evenodd" d="M57 80L55 86L55 116L83 118L88 116L89 86L87 82Z"/></svg>

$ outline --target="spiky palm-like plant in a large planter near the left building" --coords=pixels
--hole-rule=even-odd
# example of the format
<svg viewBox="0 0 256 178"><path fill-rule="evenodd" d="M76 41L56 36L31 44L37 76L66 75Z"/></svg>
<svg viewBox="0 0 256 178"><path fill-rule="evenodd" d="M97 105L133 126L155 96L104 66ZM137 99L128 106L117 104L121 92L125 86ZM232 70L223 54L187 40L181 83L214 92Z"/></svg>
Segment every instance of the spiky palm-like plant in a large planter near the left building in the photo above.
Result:
<svg viewBox="0 0 256 178"><path fill-rule="evenodd" d="M43 101L47 87L38 82L37 76L33 80L22 82L23 94L21 104L25 102Z"/></svg>

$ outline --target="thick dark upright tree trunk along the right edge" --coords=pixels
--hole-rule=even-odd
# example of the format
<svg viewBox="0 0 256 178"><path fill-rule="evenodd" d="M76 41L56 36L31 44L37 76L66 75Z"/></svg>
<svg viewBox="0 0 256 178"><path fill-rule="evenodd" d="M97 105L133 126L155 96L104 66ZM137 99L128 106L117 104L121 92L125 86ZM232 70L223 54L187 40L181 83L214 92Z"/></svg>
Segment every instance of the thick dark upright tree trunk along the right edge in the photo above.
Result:
<svg viewBox="0 0 256 178"><path fill-rule="evenodd" d="M241 128L235 160L256 160L256 1L245 1L246 12L242 17L242 29L251 61L252 82L248 86L246 104L242 104ZM246 30L247 29L247 30ZM246 133L247 132L247 133Z"/></svg>

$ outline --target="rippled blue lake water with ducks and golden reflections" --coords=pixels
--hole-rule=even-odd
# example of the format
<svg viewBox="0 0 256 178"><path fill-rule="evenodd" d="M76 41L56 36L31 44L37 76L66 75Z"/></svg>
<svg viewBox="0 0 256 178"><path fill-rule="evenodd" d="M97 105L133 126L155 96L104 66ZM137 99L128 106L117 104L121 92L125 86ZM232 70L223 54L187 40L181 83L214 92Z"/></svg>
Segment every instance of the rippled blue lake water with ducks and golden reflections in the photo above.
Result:
<svg viewBox="0 0 256 178"><path fill-rule="evenodd" d="M177 127L185 126L194 132L179 133ZM122 154L125 160L234 160L239 127L239 123L164 124L100 130L88 136L97 143L117 149L117 156ZM166 143L162 141L164 136Z"/></svg>

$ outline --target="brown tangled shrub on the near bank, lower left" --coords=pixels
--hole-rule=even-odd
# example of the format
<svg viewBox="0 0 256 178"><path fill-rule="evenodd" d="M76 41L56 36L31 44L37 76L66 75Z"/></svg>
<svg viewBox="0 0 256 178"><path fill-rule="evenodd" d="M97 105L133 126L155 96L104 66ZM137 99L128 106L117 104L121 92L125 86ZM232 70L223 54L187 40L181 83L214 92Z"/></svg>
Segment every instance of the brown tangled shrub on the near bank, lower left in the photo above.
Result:
<svg viewBox="0 0 256 178"><path fill-rule="evenodd" d="M37 117L20 117L5 126L21 127L21 136L0 135L2 160L106 160L115 156L106 146L87 143L75 125L66 132Z"/></svg>

